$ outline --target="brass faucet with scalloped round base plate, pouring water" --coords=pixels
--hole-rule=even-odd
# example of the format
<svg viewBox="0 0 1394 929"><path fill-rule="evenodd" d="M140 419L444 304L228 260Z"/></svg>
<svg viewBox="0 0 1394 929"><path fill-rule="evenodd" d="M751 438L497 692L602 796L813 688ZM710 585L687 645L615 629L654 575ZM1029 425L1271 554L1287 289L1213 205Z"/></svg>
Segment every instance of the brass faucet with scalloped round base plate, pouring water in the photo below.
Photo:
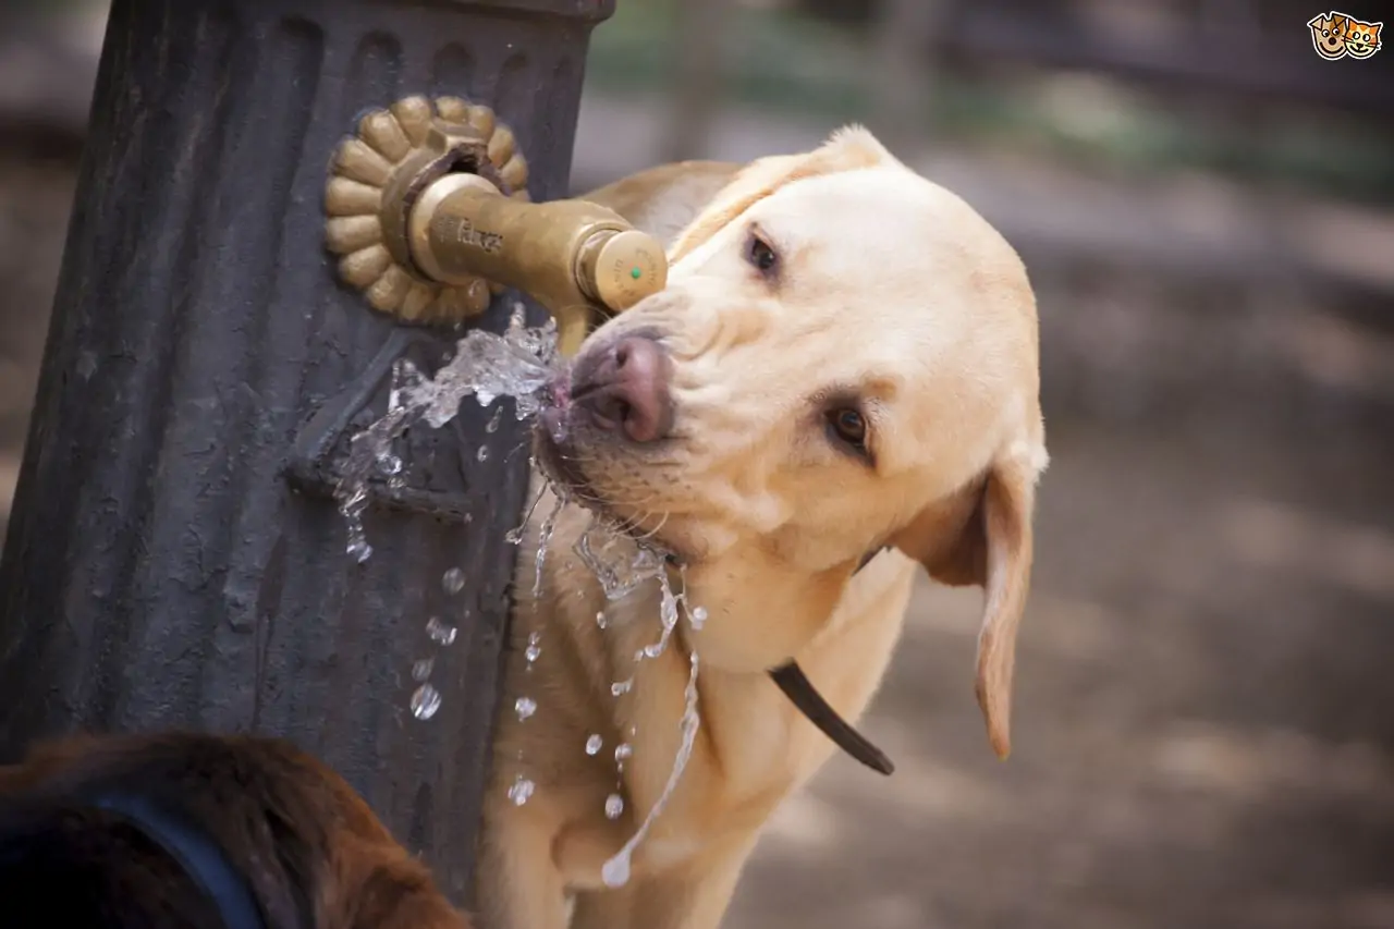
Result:
<svg viewBox="0 0 1394 929"><path fill-rule="evenodd" d="M601 317L664 289L662 246L584 199L531 204L527 160L485 106L407 98L368 113L336 152L326 244L369 305L441 325L516 287L556 319L573 354Z"/></svg>

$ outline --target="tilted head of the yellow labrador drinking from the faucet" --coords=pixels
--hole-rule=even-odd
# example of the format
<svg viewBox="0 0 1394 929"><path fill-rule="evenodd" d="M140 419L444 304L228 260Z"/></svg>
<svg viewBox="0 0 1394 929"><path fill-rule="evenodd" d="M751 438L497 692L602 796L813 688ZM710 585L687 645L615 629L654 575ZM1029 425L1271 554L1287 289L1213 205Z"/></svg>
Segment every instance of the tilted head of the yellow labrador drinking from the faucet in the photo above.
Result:
<svg viewBox="0 0 1394 929"><path fill-rule="evenodd" d="M594 332L556 385L544 460L687 565L717 665L796 654L881 545L983 586L979 697L1005 755L1046 464L1016 254L849 128L746 166L669 261L666 290ZM737 611L768 619L723 622Z"/></svg>

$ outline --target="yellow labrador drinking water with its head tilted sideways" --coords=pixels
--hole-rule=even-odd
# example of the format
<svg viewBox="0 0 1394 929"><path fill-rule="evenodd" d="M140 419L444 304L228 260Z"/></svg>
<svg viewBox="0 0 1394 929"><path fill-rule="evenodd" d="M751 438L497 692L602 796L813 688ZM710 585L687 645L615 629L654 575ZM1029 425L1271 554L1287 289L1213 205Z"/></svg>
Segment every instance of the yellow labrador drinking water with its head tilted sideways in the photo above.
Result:
<svg viewBox="0 0 1394 929"><path fill-rule="evenodd" d="M859 717L917 569L984 589L977 699L1006 755L1047 460L1036 307L1006 241L860 128L594 198L677 230L669 285L587 339L541 417L538 455L584 506L555 520L535 597L551 501L530 520L478 901L487 929L710 929L834 750L768 671L797 661ZM673 552L705 611L657 657L634 660L658 583L606 601L573 551L595 511ZM693 651L690 762L612 887L605 862L673 769Z"/></svg>

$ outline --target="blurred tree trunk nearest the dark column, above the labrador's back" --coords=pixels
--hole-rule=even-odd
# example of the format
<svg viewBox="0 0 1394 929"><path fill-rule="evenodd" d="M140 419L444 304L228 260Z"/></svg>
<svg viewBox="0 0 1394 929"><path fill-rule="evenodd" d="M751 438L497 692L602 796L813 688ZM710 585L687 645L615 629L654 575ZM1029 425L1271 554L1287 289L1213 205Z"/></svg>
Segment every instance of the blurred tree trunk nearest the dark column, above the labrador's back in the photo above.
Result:
<svg viewBox="0 0 1394 929"><path fill-rule="evenodd" d="M722 39L729 32L735 6L735 0L676 0L673 4L677 74L661 160L711 155L712 124L722 96Z"/></svg>

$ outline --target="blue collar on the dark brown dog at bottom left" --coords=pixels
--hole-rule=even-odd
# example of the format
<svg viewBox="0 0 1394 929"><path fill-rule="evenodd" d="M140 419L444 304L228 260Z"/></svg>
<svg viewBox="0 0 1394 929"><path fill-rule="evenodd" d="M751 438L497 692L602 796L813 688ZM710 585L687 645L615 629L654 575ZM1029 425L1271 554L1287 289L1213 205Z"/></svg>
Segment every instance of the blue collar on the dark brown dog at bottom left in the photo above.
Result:
<svg viewBox="0 0 1394 929"><path fill-rule="evenodd" d="M247 877L229 861L222 845L187 816L124 791L98 794L91 803L127 820L163 848L212 901L223 929L266 929Z"/></svg>

